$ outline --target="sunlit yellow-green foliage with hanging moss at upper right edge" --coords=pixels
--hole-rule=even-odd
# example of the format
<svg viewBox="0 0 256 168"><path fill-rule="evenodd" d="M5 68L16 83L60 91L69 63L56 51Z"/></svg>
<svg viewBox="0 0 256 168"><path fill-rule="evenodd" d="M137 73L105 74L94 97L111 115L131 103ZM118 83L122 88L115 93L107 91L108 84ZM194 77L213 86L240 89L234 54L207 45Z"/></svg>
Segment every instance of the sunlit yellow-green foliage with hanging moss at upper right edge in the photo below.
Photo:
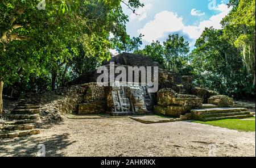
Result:
<svg viewBox="0 0 256 168"><path fill-rule="evenodd" d="M230 6L234 8L221 22L224 37L240 50L255 85L255 0L231 1Z"/></svg>

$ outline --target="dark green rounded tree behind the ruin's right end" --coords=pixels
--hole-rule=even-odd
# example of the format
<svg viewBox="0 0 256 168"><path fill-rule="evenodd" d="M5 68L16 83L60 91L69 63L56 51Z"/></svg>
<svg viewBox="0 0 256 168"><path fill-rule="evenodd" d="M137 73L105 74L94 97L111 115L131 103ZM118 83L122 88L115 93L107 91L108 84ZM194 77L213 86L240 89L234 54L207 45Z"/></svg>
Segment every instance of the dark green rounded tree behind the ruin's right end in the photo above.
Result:
<svg viewBox="0 0 256 168"><path fill-rule="evenodd" d="M196 85L235 98L255 94L240 52L223 37L223 30L206 28L195 46L189 58Z"/></svg>

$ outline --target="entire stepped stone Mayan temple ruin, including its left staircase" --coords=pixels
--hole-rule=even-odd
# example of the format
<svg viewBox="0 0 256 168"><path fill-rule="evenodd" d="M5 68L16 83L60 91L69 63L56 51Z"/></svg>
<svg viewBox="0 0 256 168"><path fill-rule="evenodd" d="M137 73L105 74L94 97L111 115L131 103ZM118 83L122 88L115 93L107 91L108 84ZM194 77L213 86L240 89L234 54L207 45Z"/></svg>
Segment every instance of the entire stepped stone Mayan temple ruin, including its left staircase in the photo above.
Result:
<svg viewBox="0 0 256 168"><path fill-rule="evenodd" d="M181 120L212 121L220 119L242 119L253 115L246 108L234 108L233 99L220 95L216 91L193 86L191 76L181 77L175 72L161 69L157 62L153 62L147 56L122 53L112 57L102 64L110 69L110 62L114 66L147 66L154 70L158 66L158 91L150 93L152 86L141 83L146 78L139 73L139 82L114 81L115 86L104 86L97 83L100 75L95 70L84 74L80 78L69 83L69 86L55 91L55 94L63 95L64 98L56 100L49 109L44 104L48 96L53 93L32 94L28 93L16 105L13 111L5 114L8 122L1 127L1 138L13 138L40 133L35 127L42 114L51 114L54 120L60 120L57 114L97 115L110 116L137 116L137 115L162 115L168 116L171 122ZM151 71L151 79L154 72ZM117 77L119 74L115 74ZM149 75L149 74L148 74ZM108 76L109 78L109 76ZM127 77L128 78L128 77ZM109 84L109 83L108 83ZM136 117L131 119L141 121ZM154 121L141 121L154 123Z"/></svg>

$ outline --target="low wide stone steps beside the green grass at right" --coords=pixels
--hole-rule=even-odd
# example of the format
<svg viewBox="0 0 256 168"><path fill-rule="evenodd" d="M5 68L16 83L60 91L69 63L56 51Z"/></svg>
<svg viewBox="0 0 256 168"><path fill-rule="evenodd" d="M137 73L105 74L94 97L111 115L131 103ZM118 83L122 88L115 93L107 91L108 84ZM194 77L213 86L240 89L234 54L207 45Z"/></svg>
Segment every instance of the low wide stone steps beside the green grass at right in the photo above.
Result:
<svg viewBox="0 0 256 168"><path fill-rule="evenodd" d="M203 104L203 109L191 110L191 114L193 119L202 121L253 117L247 108L218 107L214 104Z"/></svg>

